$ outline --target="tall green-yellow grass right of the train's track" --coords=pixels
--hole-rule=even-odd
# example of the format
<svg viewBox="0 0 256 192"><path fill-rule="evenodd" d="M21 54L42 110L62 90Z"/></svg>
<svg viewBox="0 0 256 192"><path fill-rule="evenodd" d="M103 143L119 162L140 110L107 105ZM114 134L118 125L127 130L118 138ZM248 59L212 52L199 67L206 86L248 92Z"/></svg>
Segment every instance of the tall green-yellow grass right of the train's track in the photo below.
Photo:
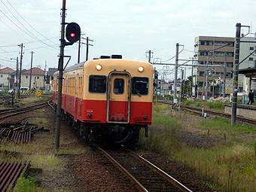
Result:
<svg viewBox="0 0 256 192"><path fill-rule="evenodd" d="M141 136L139 145L151 151L163 154L172 160L178 161L182 166L194 169L198 177L211 184L218 191L252 192L256 189L256 145L244 145L241 142L221 142L213 148L193 148L178 141L176 127L184 126L188 120L178 123L170 114L154 112L153 126L148 138ZM162 117L161 117L162 116ZM163 117L165 116L165 117ZM187 118L187 117L186 117ZM225 132L224 139L233 139L239 134L256 133L251 126L230 126L227 120L215 118L200 123L201 129L209 132ZM154 126L161 129L154 131ZM159 128L160 127L160 128Z"/></svg>

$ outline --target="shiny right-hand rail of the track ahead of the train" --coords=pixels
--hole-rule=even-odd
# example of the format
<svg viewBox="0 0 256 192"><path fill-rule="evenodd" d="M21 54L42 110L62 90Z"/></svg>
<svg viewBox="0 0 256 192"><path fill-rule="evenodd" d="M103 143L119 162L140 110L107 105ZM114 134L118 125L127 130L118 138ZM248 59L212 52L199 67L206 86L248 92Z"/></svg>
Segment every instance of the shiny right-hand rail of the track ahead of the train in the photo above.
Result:
<svg viewBox="0 0 256 192"><path fill-rule="evenodd" d="M140 162L144 163L145 165L147 165L148 167L150 167L151 169L155 169L157 170L158 174L161 175L163 178L166 178L169 182L171 182L175 187L178 187L179 190L183 191L183 192L193 192L192 190L188 189L187 187L184 186L184 184L181 184L179 181L177 181L175 178L172 178L172 176L168 175L166 172L164 172L162 169L158 168L157 166L155 166L153 163L149 162L148 160L146 160L145 158L143 158L142 156L134 153L133 151L130 151L130 154L133 155L133 157L136 157L136 159L138 159Z"/></svg>

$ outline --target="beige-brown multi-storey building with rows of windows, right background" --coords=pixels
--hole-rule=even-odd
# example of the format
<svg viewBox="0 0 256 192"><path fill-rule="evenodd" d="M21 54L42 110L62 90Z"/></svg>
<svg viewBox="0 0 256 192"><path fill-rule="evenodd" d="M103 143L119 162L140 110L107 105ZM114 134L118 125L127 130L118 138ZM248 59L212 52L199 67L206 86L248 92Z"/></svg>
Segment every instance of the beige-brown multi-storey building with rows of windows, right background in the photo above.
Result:
<svg viewBox="0 0 256 192"><path fill-rule="evenodd" d="M215 96L219 95L221 86L217 84L218 79L223 81L224 79L224 61L226 55L227 62L227 75L225 94L229 95L232 91L232 78L233 74L233 56L234 56L234 38L225 37L209 37L199 36L195 38L194 44L194 59L195 64L202 65L194 67L194 86L192 91L194 96L202 98L205 95L205 89L207 89L207 95L212 96L212 90L214 87ZM206 64L221 67L209 67L208 68L208 87L206 87ZM215 82L215 84L213 83ZM221 90L222 93L222 90Z"/></svg>

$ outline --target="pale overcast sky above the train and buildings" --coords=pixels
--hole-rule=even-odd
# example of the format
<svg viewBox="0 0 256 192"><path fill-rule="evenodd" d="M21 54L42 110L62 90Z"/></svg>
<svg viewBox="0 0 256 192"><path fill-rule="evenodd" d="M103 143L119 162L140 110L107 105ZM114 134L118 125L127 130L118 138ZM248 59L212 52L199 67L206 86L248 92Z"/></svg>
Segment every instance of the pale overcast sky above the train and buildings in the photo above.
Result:
<svg viewBox="0 0 256 192"><path fill-rule="evenodd" d="M236 23L251 26L254 33L255 7L255 0L66 0L66 22L78 23L83 37L93 39L89 59L121 54L123 59L148 61L146 52L152 50L163 62L175 56L176 43L184 45L179 59L189 59L197 36L234 37ZM11 58L20 60L21 43L23 69L30 68L31 51L33 66L57 67L61 8L62 0L0 0L1 68L16 68ZM85 52L82 44L81 61ZM69 65L78 62L78 44L67 46L65 55L72 56Z"/></svg>

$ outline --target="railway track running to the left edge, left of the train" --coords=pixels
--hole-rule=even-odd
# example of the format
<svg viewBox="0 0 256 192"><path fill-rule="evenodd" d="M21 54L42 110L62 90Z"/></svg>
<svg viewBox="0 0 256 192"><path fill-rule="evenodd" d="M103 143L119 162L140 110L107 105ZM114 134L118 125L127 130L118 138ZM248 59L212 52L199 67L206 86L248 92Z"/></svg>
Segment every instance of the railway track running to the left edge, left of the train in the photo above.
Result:
<svg viewBox="0 0 256 192"><path fill-rule="evenodd" d="M32 110L35 110L38 108L43 108L47 105L50 105L50 101L51 100L49 100L48 102L37 103L35 105L29 105L29 106L26 106L23 108L12 108L10 110L1 111L0 112L0 120L4 119L6 117L11 117L11 116L17 115L17 114L26 113L27 111L32 111Z"/></svg>

